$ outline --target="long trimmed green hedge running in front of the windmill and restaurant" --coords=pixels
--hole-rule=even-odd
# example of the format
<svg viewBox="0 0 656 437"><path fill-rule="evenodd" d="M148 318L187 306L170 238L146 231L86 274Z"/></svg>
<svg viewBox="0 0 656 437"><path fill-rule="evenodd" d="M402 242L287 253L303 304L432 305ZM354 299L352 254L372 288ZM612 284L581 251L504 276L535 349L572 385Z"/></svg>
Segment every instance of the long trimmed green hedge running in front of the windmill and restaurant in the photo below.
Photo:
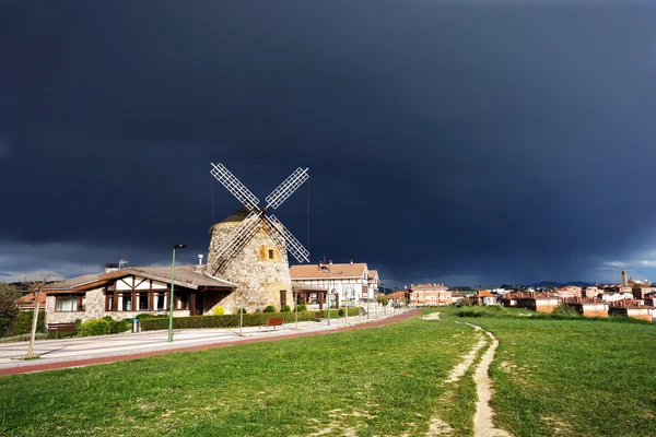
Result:
<svg viewBox="0 0 656 437"><path fill-rule="evenodd" d="M320 312L323 317L327 317L326 310L321 311L303 311L298 312L298 321L316 320L315 312ZM349 308L349 316L358 316L358 308ZM260 327L267 323L267 319L282 318L285 322L295 320L295 312L255 312L244 315L245 327ZM338 318L337 309L330 311L331 318ZM145 319L140 321L142 331L154 331L157 329L168 329L168 319ZM236 328L239 326L239 315L223 315L223 316L195 316L195 317L174 317L173 328L175 329L194 329L194 328Z"/></svg>

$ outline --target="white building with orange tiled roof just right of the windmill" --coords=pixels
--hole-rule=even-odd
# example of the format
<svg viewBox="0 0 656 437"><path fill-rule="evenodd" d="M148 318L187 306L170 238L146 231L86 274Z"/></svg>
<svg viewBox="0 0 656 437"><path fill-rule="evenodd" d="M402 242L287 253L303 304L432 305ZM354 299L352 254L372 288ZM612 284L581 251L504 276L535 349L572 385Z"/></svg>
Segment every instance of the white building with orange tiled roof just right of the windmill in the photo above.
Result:
<svg viewBox="0 0 656 437"><path fill-rule="evenodd" d="M366 262L338 264L330 261L323 268L318 264L292 265L290 276L296 283L330 290L339 306L344 300L374 299L380 285L378 272L368 270Z"/></svg>

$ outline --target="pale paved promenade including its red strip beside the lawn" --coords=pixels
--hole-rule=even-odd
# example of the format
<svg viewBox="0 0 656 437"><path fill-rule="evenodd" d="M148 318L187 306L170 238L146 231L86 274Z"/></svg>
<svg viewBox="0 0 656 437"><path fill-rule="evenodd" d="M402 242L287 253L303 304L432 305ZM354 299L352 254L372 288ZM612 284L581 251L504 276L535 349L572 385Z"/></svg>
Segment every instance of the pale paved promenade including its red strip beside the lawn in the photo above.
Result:
<svg viewBox="0 0 656 437"><path fill-rule="evenodd" d="M122 359L145 358L173 352L195 352L237 344L256 343L280 339L317 335L335 331L380 327L408 319L418 310L395 311L394 315L349 317L321 322L285 323L276 330L266 327L227 329L180 329L174 330L173 343L168 343L168 331L125 332L114 335L82 336L63 340L40 340L34 343L34 355L38 359L22 361L27 354L27 342L0 343L0 376L50 370L63 367L80 367L113 363Z"/></svg>

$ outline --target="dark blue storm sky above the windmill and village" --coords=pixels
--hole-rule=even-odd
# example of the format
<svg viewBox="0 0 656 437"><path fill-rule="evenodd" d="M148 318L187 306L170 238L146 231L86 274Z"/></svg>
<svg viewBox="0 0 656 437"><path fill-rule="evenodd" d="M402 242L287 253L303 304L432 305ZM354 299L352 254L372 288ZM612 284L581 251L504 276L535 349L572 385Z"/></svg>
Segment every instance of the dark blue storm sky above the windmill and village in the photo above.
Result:
<svg viewBox="0 0 656 437"><path fill-rule="evenodd" d="M239 205L210 162L260 199L309 167L276 214L312 262L388 286L654 280L654 3L0 11L0 280L167 263L178 240L195 262Z"/></svg>

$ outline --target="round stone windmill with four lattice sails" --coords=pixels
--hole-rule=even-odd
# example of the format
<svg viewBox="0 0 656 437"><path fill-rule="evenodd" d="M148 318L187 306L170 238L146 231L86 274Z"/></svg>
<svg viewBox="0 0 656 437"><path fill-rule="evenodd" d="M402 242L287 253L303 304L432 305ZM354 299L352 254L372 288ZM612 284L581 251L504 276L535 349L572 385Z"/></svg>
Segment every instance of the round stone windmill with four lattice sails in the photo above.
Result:
<svg viewBox="0 0 656 437"><path fill-rule="evenodd" d="M239 285L234 308L261 308L291 304L288 252L298 262L309 262L309 252L268 209L278 209L308 178L307 168L297 168L267 197L259 200L223 165L213 164L211 175L243 204L211 229L208 273ZM236 296L236 295L235 295ZM236 297L235 297L236 298ZM224 305L225 306L225 305Z"/></svg>

